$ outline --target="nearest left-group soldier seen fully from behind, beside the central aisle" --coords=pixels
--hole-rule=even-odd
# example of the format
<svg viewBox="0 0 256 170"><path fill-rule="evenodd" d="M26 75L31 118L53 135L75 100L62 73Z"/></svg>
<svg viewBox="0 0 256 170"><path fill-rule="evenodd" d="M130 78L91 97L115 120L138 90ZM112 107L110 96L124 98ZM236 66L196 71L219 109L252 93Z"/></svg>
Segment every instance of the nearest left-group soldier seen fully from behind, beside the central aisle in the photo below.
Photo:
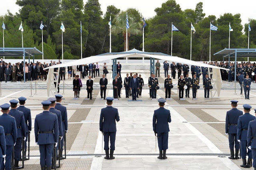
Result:
<svg viewBox="0 0 256 170"><path fill-rule="evenodd" d="M57 146L59 139L58 117L50 113L51 104L50 101L43 101L44 111L35 118L35 139L40 150L41 170L45 170L45 167L46 170L51 170L53 149Z"/></svg>

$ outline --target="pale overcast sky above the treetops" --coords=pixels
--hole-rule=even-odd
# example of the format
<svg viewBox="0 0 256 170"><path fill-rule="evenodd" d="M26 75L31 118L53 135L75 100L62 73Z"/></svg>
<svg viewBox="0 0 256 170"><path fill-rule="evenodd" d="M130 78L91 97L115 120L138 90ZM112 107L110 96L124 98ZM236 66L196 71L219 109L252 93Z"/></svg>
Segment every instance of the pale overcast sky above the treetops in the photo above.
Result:
<svg viewBox="0 0 256 170"><path fill-rule="evenodd" d="M4 1L4 0L1 0ZM87 0L84 0L84 4ZM166 0L99 0L101 4L101 10L103 13L106 12L106 8L109 5L114 5L116 8L126 10L127 8L136 8L145 18L151 18L156 13L154 9L161 7L162 3ZM124 2L127 2L126 4ZM248 18L256 19L255 11L255 0L176 0L177 4L180 4L182 10L195 9L198 2L203 2L203 10L206 16L215 15L219 18L224 13L241 14L242 25L248 23ZM6 14L9 9L10 12L15 14L19 10L19 6L15 4L16 0L6 0L1 2L0 15ZM249 5L248 5L249 4ZM232 23L231 23L232 26Z"/></svg>

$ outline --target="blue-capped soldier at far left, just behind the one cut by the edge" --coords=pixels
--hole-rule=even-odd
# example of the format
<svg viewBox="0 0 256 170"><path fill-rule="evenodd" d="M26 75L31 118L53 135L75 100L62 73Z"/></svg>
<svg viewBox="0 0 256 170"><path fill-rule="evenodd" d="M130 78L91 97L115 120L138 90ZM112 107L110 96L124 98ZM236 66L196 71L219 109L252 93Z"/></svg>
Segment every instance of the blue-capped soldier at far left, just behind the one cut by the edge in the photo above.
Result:
<svg viewBox="0 0 256 170"><path fill-rule="evenodd" d="M0 125L4 128L4 134L5 134L5 141L6 146L1 146L2 150L6 148L6 153L3 154L3 158L1 160L1 170L11 170L12 169L12 151L13 146L16 144L17 140L17 127L14 117L8 115L9 113L9 104L3 104L0 106L2 115L0 116ZM2 138L1 138L1 145L2 145ZM5 164L4 164L4 158L5 158Z"/></svg>

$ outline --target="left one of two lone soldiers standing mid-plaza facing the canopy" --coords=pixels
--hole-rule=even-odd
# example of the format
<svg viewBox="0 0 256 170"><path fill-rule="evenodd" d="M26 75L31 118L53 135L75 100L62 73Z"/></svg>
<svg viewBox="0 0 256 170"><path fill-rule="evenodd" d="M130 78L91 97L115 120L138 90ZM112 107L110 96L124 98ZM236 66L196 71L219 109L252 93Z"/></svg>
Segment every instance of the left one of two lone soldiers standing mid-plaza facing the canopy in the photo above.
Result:
<svg viewBox="0 0 256 170"><path fill-rule="evenodd" d="M131 80L132 81L132 80ZM100 112L100 131L104 135L104 150L106 152L105 159L114 159L116 141L116 121L119 122L118 109L112 107L114 98L107 97L107 107L101 109ZM109 138L110 138L110 156L109 156Z"/></svg>

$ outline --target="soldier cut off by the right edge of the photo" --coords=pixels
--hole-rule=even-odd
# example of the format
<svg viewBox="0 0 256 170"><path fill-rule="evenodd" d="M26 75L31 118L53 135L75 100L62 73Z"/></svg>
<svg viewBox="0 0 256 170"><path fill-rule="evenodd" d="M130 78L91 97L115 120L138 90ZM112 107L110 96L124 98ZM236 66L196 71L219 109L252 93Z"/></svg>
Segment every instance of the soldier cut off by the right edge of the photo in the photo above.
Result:
<svg viewBox="0 0 256 170"><path fill-rule="evenodd" d="M254 109L256 113L256 109ZM256 120L250 121L247 132L247 147L252 150L252 166L254 170L256 169ZM251 165L247 164L247 168Z"/></svg>

